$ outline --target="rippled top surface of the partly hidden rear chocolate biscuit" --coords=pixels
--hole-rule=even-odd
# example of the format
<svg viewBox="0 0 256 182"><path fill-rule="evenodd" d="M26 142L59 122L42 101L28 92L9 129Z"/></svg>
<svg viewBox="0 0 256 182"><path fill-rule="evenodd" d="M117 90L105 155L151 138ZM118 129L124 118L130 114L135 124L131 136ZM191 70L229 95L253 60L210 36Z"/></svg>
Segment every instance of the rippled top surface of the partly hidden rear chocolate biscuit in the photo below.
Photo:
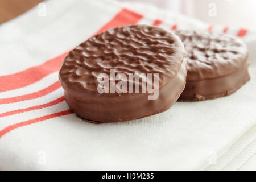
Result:
<svg viewBox="0 0 256 182"><path fill-rule="evenodd" d="M185 46L187 80L228 75L240 69L247 59L247 48L238 38L209 31L180 30L175 34Z"/></svg>

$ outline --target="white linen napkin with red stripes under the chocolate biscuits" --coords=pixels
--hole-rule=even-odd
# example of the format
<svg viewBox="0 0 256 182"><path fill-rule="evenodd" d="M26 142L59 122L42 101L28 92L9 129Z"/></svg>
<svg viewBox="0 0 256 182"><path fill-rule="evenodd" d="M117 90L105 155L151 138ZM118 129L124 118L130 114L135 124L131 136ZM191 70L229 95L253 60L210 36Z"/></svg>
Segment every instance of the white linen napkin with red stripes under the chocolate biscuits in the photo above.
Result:
<svg viewBox="0 0 256 182"><path fill-rule="evenodd" d="M94 125L70 113L57 78L65 53L98 32L134 23L209 28L150 5L79 0L46 1L0 26L0 169L256 169L251 30L226 32L245 40L251 64L251 80L230 96L176 102L123 123Z"/></svg>

